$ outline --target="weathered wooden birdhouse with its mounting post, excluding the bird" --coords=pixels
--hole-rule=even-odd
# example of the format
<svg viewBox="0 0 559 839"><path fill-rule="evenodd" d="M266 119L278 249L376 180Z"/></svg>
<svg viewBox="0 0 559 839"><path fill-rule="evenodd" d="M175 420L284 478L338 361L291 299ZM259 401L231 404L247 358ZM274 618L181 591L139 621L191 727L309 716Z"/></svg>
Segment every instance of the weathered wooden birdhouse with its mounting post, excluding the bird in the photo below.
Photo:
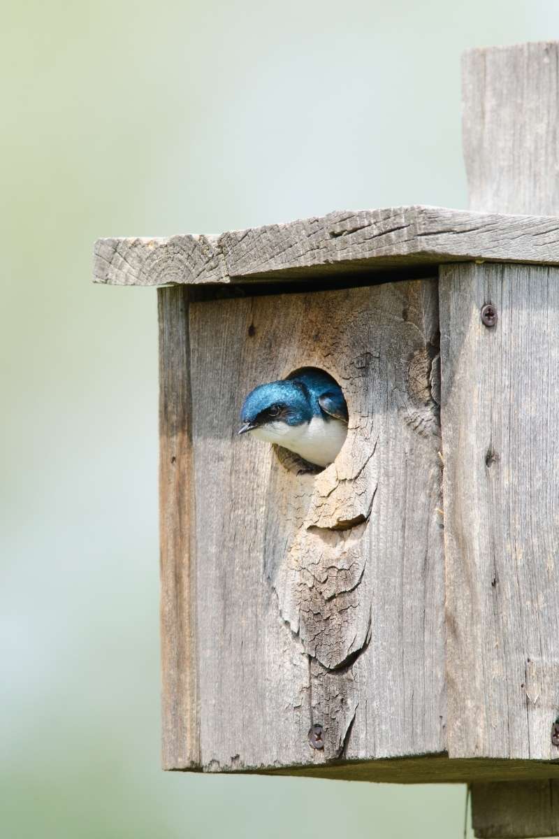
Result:
<svg viewBox="0 0 559 839"><path fill-rule="evenodd" d="M463 782L477 836L559 833L558 59L465 55L469 211L97 242L159 287L165 769ZM237 434L308 367L327 466Z"/></svg>

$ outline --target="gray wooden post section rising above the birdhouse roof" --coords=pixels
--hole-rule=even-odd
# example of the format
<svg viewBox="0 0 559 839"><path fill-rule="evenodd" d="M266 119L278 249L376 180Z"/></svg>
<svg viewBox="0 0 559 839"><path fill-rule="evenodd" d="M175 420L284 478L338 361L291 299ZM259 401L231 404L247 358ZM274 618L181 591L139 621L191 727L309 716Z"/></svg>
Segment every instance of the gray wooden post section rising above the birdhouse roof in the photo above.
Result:
<svg viewBox="0 0 559 839"><path fill-rule="evenodd" d="M559 44L463 55L470 208L559 215Z"/></svg>

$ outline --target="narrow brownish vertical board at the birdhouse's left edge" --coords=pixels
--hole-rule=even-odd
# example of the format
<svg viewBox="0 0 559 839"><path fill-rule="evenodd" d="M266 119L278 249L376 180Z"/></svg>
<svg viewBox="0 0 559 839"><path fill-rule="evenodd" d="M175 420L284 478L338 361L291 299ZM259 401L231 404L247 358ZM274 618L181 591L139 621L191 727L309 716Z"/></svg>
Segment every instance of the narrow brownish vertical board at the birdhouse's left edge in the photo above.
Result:
<svg viewBox="0 0 559 839"><path fill-rule="evenodd" d="M188 295L158 290L164 769L199 764Z"/></svg>

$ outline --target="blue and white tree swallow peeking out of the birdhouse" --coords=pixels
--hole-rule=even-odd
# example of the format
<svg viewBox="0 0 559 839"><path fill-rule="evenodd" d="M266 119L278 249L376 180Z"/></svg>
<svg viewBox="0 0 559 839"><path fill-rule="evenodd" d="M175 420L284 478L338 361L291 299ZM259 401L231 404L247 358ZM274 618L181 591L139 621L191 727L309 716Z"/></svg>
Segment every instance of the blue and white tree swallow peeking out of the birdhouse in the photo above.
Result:
<svg viewBox="0 0 559 839"><path fill-rule="evenodd" d="M276 443L316 466L329 466L344 445L348 408L329 373L301 367L279 382L260 384L246 397L239 434Z"/></svg>

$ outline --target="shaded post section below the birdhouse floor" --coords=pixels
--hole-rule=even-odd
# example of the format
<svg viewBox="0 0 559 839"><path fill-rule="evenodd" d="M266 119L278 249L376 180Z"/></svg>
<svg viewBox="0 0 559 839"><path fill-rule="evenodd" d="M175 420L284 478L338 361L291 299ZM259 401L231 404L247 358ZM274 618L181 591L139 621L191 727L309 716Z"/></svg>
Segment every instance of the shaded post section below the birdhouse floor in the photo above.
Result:
<svg viewBox="0 0 559 839"><path fill-rule="evenodd" d="M472 805L479 839L559 834L559 781L474 784Z"/></svg>

